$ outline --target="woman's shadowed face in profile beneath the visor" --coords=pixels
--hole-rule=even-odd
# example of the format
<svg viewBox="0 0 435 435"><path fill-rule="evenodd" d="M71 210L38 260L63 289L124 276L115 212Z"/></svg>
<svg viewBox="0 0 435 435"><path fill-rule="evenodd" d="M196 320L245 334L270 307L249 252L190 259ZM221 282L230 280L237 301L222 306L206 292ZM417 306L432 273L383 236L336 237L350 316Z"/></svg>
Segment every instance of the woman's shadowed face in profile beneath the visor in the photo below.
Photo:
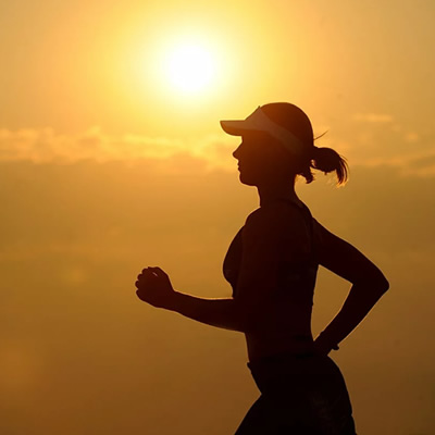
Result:
<svg viewBox="0 0 435 435"><path fill-rule="evenodd" d="M238 160L240 182L248 186L264 185L283 176L289 178L290 156L266 133L245 133L233 157Z"/></svg>

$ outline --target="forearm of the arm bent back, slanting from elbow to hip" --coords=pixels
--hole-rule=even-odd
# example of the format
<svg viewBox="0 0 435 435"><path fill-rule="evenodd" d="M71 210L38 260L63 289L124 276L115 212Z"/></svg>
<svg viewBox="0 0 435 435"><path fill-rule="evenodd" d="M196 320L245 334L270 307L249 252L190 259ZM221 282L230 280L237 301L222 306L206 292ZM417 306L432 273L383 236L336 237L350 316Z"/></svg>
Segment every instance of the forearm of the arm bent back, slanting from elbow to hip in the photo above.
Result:
<svg viewBox="0 0 435 435"><path fill-rule="evenodd" d="M340 311L315 339L331 349L344 340L380 300L388 285L373 288L371 283L353 284Z"/></svg>

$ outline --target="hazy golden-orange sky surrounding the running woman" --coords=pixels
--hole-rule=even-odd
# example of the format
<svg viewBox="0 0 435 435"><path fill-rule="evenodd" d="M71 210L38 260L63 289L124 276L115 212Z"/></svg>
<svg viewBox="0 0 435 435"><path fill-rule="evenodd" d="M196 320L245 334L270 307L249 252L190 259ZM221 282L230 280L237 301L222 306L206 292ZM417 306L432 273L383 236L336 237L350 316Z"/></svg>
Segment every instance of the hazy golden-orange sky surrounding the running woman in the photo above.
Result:
<svg viewBox="0 0 435 435"><path fill-rule="evenodd" d="M183 293L231 296L222 262L259 199L219 121L273 101L347 158L345 187L318 173L298 196L390 283L331 353L357 432L435 433L432 1L1 7L2 434L235 432L259 395L243 334L134 283L159 265ZM187 78L171 63L186 47L203 53ZM314 336L348 290L320 271Z"/></svg>

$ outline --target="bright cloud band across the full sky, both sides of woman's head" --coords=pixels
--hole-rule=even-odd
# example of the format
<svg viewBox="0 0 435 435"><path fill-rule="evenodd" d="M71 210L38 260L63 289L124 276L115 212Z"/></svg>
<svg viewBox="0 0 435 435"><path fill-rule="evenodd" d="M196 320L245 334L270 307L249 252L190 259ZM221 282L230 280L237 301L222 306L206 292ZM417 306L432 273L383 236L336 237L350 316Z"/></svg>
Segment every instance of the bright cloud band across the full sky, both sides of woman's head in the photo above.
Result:
<svg viewBox="0 0 435 435"><path fill-rule="evenodd" d="M359 121L386 123L389 115L374 113L356 115ZM394 127L396 124L388 124ZM409 129L386 130L363 128L352 132L356 140L349 142L348 134L330 144L350 158L351 165L391 166L402 175L434 176L435 147L432 138L422 138ZM415 145L418 142L418 146ZM380 147L380 144L383 144ZM237 140L225 135L206 135L196 139L169 139L137 134L110 135L94 126L76 135L64 135L52 128L0 129L0 162L30 161L33 163L71 164L79 161L97 163L147 160L153 165L164 165L171 173L223 170L234 172L233 151ZM194 165L194 166L192 166Z"/></svg>

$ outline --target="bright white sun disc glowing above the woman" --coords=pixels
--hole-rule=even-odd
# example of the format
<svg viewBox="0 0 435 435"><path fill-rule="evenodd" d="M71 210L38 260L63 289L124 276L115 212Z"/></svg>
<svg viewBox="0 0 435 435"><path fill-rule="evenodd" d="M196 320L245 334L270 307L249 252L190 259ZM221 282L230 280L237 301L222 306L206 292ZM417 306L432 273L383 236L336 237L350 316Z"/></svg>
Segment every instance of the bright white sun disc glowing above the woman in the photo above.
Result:
<svg viewBox="0 0 435 435"><path fill-rule="evenodd" d="M206 47L184 44L173 48L164 62L169 82L181 92L198 94L215 77L215 60Z"/></svg>

